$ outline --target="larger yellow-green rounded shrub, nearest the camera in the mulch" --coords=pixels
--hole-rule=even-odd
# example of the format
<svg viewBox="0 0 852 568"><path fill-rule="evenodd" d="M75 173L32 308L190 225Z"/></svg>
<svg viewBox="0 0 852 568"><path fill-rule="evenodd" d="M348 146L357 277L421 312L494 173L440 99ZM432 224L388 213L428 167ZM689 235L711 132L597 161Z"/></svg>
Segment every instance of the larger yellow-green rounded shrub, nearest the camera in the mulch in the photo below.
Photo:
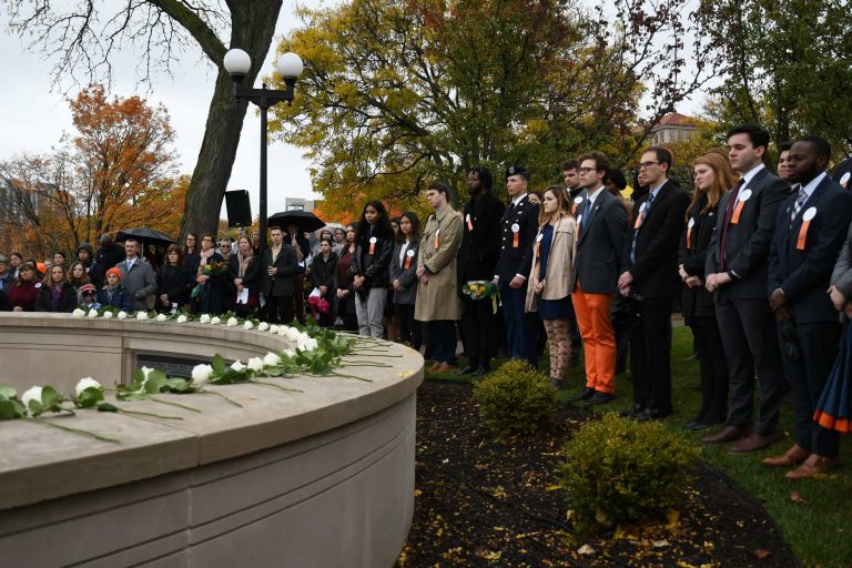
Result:
<svg viewBox="0 0 852 568"><path fill-rule="evenodd" d="M688 486L698 450L660 423L608 414L586 424L565 447L559 485L577 527L665 518Z"/></svg>

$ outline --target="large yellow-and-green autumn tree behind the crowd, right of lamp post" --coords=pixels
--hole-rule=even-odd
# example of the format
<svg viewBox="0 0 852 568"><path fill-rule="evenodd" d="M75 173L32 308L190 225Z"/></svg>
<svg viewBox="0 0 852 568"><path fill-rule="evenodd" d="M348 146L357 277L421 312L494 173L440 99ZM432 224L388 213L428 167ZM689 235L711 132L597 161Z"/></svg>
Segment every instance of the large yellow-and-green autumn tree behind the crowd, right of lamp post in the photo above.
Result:
<svg viewBox="0 0 852 568"><path fill-rule="evenodd" d="M581 150L631 155L639 112L642 138L707 80L688 4L617 0L609 16L572 0L302 9L303 28L278 51L302 54L305 95L274 108L272 129L306 150L314 189L337 212L368 197L416 203L428 178L460 185L478 163L519 162L539 184L555 181Z"/></svg>

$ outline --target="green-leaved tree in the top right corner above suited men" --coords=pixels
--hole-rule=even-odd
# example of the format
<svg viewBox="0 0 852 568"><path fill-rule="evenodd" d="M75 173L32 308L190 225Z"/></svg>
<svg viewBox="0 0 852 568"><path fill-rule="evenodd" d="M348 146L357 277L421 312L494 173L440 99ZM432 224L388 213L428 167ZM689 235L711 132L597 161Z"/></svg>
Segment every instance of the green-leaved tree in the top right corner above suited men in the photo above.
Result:
<svg viewBox="0 0 852 568"><path fill-rule="evenodd" d="M724 55L708 115L755 122L772 140L828 138L852 152L852 20L845 0L703 1L702 27Z"/></svg>

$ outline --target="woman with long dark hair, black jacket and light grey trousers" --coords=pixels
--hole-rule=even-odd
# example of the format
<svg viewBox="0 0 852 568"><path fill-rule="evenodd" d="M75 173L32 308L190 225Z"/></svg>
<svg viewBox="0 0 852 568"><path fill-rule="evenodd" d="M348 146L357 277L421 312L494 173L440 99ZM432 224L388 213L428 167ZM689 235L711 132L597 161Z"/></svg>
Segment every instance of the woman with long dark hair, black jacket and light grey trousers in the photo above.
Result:
<svg viewBox="0 0 852 568"><path fill-rule="evenodd" d="M363 336L382 337L393 251L394 230L387 210L382 202L369 201L361 213L349 266L358 333Z"/></svg>

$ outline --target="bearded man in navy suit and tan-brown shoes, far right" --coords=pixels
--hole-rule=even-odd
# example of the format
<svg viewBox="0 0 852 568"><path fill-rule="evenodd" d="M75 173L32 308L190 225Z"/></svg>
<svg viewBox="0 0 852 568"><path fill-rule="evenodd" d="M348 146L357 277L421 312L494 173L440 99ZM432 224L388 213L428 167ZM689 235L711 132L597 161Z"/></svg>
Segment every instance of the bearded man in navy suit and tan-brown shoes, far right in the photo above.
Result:
<svg viewBox="0 0 852 568"><path fill-rule="evenodd" d="M830 159L831 144L820 136L807 136L790 149L788 174L799 191L779 207L769 255L769 304L782 344L792 342L799 348L781 351L793 388L795 445L763 464L801 464L788 471L790 479L833 468L840 450L840 434L813 420L841 336L838 313L825 291L852 221L852 194L825 173Z"/></svg>

